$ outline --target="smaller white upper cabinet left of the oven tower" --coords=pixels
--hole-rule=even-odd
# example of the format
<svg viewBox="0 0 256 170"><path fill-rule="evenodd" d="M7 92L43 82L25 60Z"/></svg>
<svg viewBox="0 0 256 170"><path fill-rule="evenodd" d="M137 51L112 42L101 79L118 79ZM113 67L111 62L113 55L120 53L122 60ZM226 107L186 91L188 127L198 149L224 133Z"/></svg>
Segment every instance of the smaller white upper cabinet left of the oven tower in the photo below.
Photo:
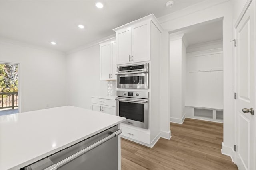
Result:
<svg viewBox="0 0 256 170"><path fill-rule="evenodd" d="M116 80L116 39L100 44L100 80Z"/></svg>

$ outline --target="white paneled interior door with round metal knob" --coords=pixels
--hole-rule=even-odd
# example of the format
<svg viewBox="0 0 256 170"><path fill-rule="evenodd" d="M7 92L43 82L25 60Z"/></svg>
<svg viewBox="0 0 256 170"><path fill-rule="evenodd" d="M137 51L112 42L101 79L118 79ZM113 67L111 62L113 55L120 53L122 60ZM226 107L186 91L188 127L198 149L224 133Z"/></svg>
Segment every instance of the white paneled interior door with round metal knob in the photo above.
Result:
<svg viewBox="0 0 256 170"><path fill-rule="evenodd" d="M236 163L239 170L255 170L255 16L254 1L236 28ZM243 111L244 109L244 111Z"/></svg>

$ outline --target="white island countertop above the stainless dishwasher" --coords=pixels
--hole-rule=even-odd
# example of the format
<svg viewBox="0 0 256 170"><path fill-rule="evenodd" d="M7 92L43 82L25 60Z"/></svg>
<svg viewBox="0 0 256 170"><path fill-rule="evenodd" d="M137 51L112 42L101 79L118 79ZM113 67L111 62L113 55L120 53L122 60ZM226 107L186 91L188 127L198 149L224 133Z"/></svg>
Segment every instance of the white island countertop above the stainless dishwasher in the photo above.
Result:
<svg viewBox="0 0 256 170"><path fill-rule="evenodd" d="M124 121L73 106L0 116L0 170L17 170Z"/></svg>

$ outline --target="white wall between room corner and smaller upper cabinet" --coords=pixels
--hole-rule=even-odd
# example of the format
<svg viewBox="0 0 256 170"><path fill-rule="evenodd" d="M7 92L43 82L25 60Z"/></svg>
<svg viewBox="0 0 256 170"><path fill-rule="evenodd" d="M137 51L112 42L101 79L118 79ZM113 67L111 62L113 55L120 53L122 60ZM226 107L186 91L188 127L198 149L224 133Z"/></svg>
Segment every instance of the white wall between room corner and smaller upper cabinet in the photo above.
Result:
<svg viewBox="0 0 256 170"><path fill-rule="evenodd" d="M107 81L100 80L99 45L67 55L66 80L68 105L90 109L92 96L107 95Z"/></svg>

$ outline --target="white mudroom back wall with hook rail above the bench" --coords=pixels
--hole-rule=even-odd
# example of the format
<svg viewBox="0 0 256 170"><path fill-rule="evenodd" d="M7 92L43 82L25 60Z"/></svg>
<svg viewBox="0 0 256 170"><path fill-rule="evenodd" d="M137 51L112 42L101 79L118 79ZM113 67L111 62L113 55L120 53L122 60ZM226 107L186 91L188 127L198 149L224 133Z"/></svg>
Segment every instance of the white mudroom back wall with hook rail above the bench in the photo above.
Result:
<svg viewBox="0 0 256 170"><path fill-rule="evenodd" d="M222 41L212 43L188 46L193 52L187 53L186 106L223 109ZM199 70L206 72L195 72Z"/></svg>

